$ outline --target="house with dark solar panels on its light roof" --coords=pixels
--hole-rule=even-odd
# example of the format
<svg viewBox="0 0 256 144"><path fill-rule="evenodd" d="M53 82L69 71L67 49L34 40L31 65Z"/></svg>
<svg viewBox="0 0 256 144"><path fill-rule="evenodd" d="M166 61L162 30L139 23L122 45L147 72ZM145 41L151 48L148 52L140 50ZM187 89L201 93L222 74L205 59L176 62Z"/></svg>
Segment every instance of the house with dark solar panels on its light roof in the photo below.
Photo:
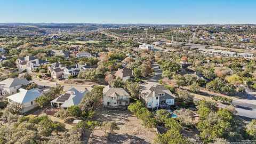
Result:
<svg viewBox="0 0 256 144"><path fill-rule="evenodd" d="M71 106L77 106L83 99L84 95L88 92L89 92L88 90L79 92L73 87L70 90L68 90L66 93L52 100L51 105L53 107L61 107L64 109Z"/></svg>

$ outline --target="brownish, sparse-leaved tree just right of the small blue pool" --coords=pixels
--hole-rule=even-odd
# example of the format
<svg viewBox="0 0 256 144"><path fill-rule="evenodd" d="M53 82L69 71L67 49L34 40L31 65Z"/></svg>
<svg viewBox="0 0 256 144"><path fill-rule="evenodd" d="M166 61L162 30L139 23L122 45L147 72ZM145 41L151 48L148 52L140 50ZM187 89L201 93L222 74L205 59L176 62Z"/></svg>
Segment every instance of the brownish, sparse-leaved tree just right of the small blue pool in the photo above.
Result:
<svg viewBox="0 0 256 144"><path fill-rule="evenodd" d="M192 123L195 120L195 114L193 113L193 111L189 109L181 108L181 109L175 110L174 114L177 115L179 122L185 126L192 125Z"/></svg>

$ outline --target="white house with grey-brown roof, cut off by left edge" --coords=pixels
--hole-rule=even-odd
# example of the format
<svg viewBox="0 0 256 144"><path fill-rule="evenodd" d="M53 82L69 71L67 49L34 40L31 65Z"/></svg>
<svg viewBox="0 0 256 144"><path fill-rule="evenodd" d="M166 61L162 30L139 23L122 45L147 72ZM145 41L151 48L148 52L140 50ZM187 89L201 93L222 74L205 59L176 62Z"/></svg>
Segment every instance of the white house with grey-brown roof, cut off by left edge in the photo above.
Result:
<svg viewBox="0 0 256 144"><path fill-rule="evenodd" d="M2 89L2 95L6 94L15 94L17 90L20 89L22 85L28 85L29 82L26 78L20 79L16 78L7 78L4 81L0 82L0 89Z"/></svg>

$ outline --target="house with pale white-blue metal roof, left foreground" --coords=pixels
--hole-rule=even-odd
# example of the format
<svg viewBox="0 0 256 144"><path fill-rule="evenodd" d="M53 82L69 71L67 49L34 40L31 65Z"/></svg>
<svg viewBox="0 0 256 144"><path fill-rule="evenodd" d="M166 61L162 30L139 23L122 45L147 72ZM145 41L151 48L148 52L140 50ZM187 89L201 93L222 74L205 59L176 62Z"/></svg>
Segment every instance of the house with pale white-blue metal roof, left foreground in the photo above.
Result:
<svg viewBox="0 0 256 144"><path fill-rule="evenodd" d="M19 93L10 95L7 97L9 103L20 103L22 106L21 113L27 113L28 111L38 107L35 99L43 94L43 91L38 88L25 90L19 89Z"/></svg>

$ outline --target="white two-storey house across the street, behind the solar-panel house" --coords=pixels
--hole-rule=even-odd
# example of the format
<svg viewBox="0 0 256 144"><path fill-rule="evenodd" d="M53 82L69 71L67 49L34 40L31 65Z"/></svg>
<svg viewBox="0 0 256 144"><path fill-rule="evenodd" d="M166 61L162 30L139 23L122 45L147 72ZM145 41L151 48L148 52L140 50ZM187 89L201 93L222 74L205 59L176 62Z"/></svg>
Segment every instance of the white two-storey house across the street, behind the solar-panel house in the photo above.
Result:
<svg viewBox="0 0 256 144"><path fill-rule="evenodd" d="M63 78L68 78L69 76L75 77L79 74L80 70L85 70L86 68L89 68L89 66L80 65L80 64L76 64L75 66L71 66L71 67L65 67L63 69L62 77Z"/></svg>

